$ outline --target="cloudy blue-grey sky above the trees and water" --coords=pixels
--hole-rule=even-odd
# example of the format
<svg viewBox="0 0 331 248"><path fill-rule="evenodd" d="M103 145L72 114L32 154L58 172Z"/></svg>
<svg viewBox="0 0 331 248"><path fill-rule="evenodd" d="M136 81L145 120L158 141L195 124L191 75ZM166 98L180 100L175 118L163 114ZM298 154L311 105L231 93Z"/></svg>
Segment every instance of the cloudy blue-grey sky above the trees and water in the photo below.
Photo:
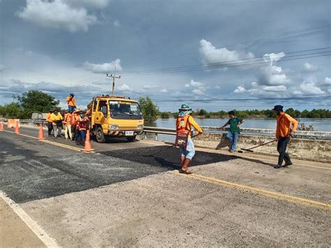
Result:
<svg viewBox="0 0 331 248"><path fill-rule="evenodd" d="M330 4L0 0L0 104L36 89L86 108L116 70L115 94L162 111L330 109Z"/></svg>

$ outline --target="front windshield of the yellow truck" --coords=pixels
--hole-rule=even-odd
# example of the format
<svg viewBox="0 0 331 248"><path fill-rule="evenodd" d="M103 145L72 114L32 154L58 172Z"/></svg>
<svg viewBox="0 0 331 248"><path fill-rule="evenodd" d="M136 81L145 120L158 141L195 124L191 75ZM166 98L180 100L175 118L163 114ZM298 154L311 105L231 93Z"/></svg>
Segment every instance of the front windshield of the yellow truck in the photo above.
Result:
<svg viewBox="0 0 331 248"><path fill-rule="evenodd" d="M111 115L142 115L138 103L133 103L129 101L110 101L109 107Z"/></svg>

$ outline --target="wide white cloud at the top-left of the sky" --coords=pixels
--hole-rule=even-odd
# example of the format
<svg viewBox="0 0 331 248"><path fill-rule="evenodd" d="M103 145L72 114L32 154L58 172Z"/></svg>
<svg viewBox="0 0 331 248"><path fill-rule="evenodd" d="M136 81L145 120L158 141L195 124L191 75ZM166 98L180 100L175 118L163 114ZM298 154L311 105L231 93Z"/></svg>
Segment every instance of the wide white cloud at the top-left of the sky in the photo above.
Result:
<svg viewBox="0 0 331 248"><path fill-rule="evenodd" d="M27 6L18 11L17 15L40 27L65 29L72 33L80 30L87 31L91 24L98 22L95 15L87 13L86 8L75 8L66 2L64 0L27 0Z"/></svg>

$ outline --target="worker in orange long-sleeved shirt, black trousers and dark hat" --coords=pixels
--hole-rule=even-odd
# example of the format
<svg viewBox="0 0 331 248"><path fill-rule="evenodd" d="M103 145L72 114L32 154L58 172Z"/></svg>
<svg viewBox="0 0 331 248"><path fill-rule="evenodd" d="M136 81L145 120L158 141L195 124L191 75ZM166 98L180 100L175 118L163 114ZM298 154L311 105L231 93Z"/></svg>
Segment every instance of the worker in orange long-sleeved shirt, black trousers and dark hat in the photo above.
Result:
<svg viewBox="0 0 331 248"><path fill-rule="evenodd" d="M278 163L276 166L274 166L274 168L279 169L281 168L284 160L284 167L292 165L290 156L286 152L286 146L292 138L292 133L297 130L297 120L286 114L283 111L282 105L275 105L273 110L277 114L276 138L274 138L274 140L278 141L277 151L279 152Z"/></svg>

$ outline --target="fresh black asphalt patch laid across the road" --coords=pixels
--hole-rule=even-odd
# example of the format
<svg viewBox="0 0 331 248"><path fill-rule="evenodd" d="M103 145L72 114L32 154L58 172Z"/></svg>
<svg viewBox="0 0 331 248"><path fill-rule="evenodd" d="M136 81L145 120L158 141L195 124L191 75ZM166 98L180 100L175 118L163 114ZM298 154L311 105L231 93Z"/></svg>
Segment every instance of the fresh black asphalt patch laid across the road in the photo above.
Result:
<svg viewBox="0 0 331 248"><path fill-rule="evenodd" d="M138 148L86 154L0 132L0 189L17 203L24 203L179 168L177 148L166 149L156 157L143 156L165 148L140 144ZM191 165L229 159L235 156L197 152Z"/></svg>

